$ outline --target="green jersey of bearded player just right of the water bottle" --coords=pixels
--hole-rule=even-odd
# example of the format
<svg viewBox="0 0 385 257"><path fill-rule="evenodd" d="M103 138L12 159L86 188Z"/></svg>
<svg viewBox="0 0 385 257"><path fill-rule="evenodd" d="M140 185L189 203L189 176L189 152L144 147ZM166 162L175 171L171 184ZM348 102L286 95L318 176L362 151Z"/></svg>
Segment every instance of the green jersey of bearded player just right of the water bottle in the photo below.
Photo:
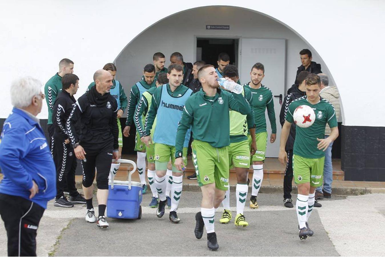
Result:
<svg viewBox="0 0 385 257"><path fill-rule="evenodd" d="M255 133L266 132L266 109L270 121L271 133L277 133L273 93L268 87L261 85L258 89L254 89L249 86L249 83L246 83L243 86L248 87L253 94L251 108L254 111Z"/></svg>

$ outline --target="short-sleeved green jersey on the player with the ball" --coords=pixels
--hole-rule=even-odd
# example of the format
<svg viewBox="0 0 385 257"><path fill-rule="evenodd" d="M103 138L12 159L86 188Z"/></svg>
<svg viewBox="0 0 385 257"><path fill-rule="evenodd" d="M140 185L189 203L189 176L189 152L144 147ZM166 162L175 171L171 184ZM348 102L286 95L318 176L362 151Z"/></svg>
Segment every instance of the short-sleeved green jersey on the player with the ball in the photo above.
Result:
<svg viewBox="0 0 385 257"><path fill-rule="evenodd" d="M290 103L288 113L286 114L286 121L293 123L293 113L300 105L308 105L314 110L315 121L308 128L296 126L293 153L304 158L322 158L325 156L325 152L318 150L317 145L319 142L317 138L325 138L326 123L329 124L330 128L338 125L334 107L322 97L318 103L311 104L308 102L307 97L303 96Z"/></svg>

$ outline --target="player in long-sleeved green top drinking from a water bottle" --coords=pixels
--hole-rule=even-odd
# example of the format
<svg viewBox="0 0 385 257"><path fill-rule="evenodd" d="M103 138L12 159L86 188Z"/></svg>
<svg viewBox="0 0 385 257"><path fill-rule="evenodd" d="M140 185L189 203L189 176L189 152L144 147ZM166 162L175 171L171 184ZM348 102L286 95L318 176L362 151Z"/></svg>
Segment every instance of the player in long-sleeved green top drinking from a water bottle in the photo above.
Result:
<svg viewBox="0 0 385 257"><path fill-rule="evenodd" d="M201 212L195 215L195 237L201 239L203 227L206 227L207 246L210 250L218 250L214 208L219 207L229 187L229 108L244 115L251 113L251 108L242 94L219 89L214 66L201 67L198 79L203 89L187 99L177 129L175 167L182 170L184 138L191 126L192 161L203 195Z"/></svg>

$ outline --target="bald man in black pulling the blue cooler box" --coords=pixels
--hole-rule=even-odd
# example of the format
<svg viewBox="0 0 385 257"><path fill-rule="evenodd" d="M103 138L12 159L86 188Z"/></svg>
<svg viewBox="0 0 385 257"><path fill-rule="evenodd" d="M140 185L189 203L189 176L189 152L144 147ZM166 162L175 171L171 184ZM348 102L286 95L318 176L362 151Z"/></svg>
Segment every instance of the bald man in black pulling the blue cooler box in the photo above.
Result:
<svg viewBox="0 0 385 257"><path fill-rule="evenodd" d="M111 96L112 75L98 70L94 74L95 86L80 96L67 120L67 133L75 156L82 160L83 191L87 203L87 222L97 221L98 227L107 228L104 213L108 197L108 176L112 158L119 159L117 102ZM75 124L80 120L81 132ZM99 216L95 217L92 193L96 174Z"/></svg>

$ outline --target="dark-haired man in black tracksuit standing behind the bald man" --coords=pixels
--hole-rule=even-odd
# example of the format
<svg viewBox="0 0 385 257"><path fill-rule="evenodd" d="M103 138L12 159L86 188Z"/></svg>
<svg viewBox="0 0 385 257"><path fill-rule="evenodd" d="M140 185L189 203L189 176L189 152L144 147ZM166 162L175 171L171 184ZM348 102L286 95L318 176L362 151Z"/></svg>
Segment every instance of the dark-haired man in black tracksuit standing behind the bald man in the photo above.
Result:
<svg viewBox="0 0 385 257"><path fill-rule="evenodd" d="M52 112L52 123L54 124L54 162L56 166L56 199L54 206L74 207L74 203L85 204L85 199L79 194L75 187L75 170L77 166L74 149L72 148L65 123L74 108L79 77L75 74L65 74L62 78L62 91L57 95ZM69 201L64 196L64 188L69 193Z"/></svg>

